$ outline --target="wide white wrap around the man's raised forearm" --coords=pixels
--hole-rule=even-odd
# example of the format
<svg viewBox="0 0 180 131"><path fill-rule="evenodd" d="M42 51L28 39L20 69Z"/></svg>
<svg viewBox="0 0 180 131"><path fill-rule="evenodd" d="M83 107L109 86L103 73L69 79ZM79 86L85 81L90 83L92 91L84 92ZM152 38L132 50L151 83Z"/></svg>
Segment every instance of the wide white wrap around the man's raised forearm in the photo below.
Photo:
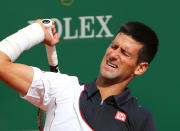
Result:
<svg viewBox="0 0 180 131"><path fill-rule="evenodd" d="M44 40L44 30L38 23L31 24L0 42L0 51L15 61L19 55Z"/></svg>

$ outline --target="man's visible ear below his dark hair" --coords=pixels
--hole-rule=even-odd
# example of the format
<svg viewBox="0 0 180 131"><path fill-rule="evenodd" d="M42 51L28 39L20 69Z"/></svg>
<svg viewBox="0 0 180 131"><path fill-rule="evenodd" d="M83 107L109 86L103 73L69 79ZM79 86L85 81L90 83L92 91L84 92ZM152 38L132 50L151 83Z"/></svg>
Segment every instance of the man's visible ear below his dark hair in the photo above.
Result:
<svg viewBox="0 0 180 131"><path fill-rule="evenodd" d="M149 63L147 62L141 62L137 65L134 74L135 75L142 75L144 74L144 72L146 72L147 68L149 66Z"/></svg>

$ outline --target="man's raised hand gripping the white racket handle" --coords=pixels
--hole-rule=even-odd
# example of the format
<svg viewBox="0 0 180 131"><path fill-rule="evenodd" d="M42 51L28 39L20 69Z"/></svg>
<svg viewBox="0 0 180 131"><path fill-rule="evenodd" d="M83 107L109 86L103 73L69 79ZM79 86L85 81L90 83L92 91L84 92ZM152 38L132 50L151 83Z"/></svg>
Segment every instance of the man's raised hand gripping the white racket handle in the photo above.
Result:
<svg viewBox="0 0 180 131"><path fill-rule="evenodd" d="M47 28L42 23L42 20L38 19L35 22L39 23L44 30L44 41L42 41L41 43L45 43L49 46L54 46L57 43L59 43L58 34L56 33L56 28L55 28L55 24L54 24L53 20L52 20L53 23L52 23L52 27L51 27L53 37L51 37L51 35L49 34Z"/></svg>

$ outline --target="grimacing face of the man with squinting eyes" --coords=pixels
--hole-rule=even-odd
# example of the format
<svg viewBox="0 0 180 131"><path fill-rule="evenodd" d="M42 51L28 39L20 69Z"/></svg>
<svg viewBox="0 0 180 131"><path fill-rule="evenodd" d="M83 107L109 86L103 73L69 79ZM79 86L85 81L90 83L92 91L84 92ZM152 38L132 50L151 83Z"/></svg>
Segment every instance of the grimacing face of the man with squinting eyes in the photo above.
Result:
<svg viewBox="0 0 180 131"><path fill-rule="evenodd" d="M107 48L100 66L100 75L106 79L124 81L135 75L138 53L142 44L132 37L118 33Z"/></svg>

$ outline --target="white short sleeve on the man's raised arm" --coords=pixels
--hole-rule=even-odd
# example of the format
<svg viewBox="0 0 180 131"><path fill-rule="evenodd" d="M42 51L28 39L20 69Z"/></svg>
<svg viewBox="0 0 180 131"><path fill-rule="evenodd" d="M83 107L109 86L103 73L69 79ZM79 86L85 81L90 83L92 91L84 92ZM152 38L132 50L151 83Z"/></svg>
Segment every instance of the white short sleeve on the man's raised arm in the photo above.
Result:
<svg viewBox="0 0 180 131"><path fill-rule="evenodd" d="M28 93L22 98L46 111L57 96L61 96L64 90L71 87L73 77L61 73L44 72L36 67L32 68L34 71L32 84Z"/></svg>

